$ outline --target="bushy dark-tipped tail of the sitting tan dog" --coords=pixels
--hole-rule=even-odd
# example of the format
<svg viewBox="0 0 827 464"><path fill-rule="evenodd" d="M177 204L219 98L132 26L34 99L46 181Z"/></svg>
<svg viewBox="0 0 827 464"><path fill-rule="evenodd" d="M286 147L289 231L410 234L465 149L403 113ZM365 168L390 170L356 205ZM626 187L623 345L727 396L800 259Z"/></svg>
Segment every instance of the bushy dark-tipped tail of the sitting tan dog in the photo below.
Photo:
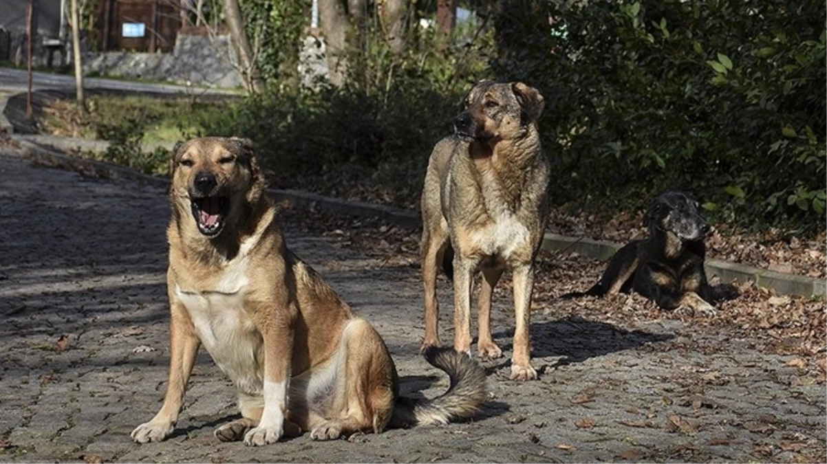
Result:
<svg viewBox="0 0 827 464"><path fill-rule="evenodd" d="M433 400L414 400L400 396L394 405L390 426L447 424L476 414L488 398L485 371L479 364L453 348L427 348L425 359L448 374L451 386Z"/></svg>

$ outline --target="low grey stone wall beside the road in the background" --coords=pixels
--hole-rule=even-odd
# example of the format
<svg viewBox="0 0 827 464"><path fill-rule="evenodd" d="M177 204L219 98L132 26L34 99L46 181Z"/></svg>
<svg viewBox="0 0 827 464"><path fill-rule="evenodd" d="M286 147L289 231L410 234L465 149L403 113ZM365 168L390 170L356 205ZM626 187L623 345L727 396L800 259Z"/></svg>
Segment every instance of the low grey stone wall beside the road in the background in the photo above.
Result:
<svg viewBox="0 0 827 464"><path fill-rule="evenodd" d="M243 87L233 68L236 53L227 35L179 33L172 53L107 52L88 54L84 72L122 78L169 81L210 88Z"/></svg>

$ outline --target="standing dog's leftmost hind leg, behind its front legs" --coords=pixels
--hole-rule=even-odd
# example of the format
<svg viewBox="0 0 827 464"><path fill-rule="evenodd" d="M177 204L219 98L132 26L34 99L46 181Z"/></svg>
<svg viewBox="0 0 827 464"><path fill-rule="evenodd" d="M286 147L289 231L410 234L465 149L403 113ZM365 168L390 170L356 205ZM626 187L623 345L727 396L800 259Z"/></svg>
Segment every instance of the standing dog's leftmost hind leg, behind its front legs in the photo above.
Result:
<svg viewBox="0 0 827 464"><path fill-rule="evenodd" d="M422 349L440 346L439 343L439 301L437 301L437 270L449 245L444 227L422 233L422 281L425 289L425 339Z"/></svg>

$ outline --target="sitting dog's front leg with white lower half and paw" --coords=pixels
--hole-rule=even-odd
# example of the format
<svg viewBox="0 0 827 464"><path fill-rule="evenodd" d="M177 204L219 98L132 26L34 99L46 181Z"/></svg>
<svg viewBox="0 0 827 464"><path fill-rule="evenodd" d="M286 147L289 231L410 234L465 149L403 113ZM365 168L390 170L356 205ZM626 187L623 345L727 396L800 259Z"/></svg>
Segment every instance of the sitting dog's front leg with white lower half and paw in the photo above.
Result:
<svg viewBox="0 0 827 464"><path fill-rule="evenodd" d="M284 305L282 307L290 307ZM287 392L290 381L290 360L293 357L293 323L297 311L261 311L257 326L264 339L264 411L255 428L244 436L248 446L263 446L279 441L284 434L287 414Z"/></svg>

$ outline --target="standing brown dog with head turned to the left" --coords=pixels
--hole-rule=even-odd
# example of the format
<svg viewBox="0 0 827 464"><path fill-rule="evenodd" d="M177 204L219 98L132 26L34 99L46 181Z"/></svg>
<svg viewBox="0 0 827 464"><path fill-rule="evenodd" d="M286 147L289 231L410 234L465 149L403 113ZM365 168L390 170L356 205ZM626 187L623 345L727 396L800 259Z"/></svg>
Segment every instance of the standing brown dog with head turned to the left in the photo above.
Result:
<svg viewBox="0 0 827 464"><path fill-rule="evenodd" d="M454 348L471 353L471 288L477 268L480 357L500 357L491 339L491 294L504 268L514 272L511 378L537 378L531 366L529 312L534 258L546 227L549 163L537 120L543 96L523 83L477 83L454 121L456 134L437 143L422 193L423 348L438 346L437 266L454 281Z"/></svg>

